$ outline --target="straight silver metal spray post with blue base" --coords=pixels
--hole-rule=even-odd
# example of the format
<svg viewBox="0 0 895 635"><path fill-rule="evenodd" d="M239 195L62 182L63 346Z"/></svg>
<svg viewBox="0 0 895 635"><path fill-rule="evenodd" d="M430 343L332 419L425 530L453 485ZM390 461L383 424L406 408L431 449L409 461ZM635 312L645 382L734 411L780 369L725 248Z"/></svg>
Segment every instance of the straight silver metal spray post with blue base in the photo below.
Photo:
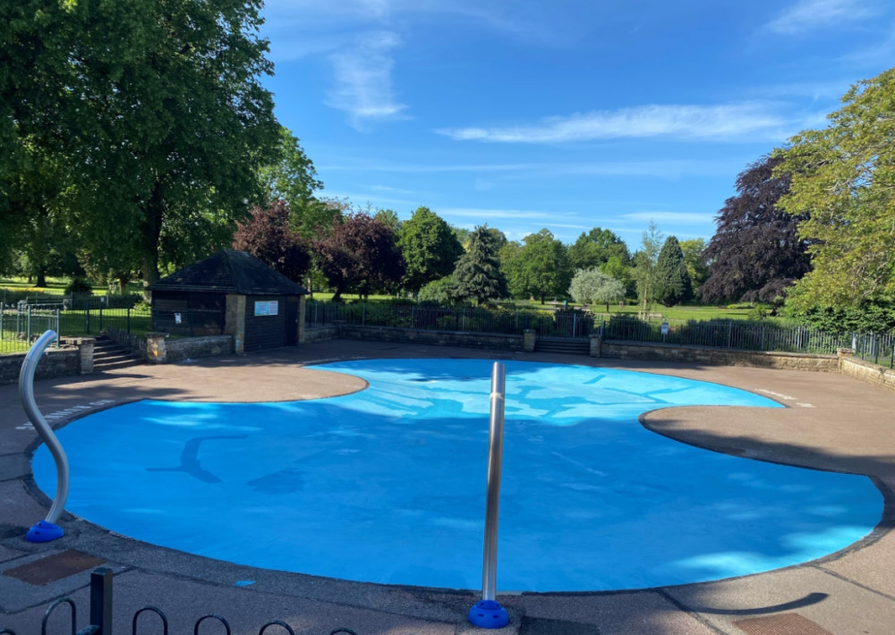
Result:
<svg viewBox="0 0 895 635"><path fill-rule="evenodd" d="M491 369L491 415L488 443L488 495L485 507L485 540L482 562L482 600L469 609L469 621L483 629L501 629L509 623L507 610L495 599L498 569L498 512L500 471L503 462L504 402L507 367L499 361Z"/></svg>

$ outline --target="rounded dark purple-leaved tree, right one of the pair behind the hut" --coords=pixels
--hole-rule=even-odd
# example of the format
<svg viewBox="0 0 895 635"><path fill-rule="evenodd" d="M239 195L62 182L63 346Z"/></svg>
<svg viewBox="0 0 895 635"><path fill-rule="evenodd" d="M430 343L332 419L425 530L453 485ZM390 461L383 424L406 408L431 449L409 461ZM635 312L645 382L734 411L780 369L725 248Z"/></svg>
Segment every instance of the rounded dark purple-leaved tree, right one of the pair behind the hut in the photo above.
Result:
<svg viewBox="0 0 895 635"><path fill-rule="evenodd" d="M342 293L366 296L372 291L391 291L405 274L404 259L388 225L371 216L351 213L334 216L331 231L313 242L317 264L340 301Z"/></svg>

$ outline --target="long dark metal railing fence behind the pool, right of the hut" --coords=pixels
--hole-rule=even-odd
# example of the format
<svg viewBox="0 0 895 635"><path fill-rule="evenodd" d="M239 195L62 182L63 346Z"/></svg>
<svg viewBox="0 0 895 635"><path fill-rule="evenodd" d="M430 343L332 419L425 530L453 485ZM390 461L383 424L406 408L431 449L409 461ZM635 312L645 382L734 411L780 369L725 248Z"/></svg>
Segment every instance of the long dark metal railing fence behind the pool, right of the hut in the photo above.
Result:
<svg viewBox="0 0 895 635"><path fill-rule="evenodd" d="M856 357L862 360L895 368L895 334L826 333L805 326L780 326L746 320L705 322L641 319L625 315L607 319L580 310L545 312L309 301L305 321L308 326L341 323L503 334L522 334L524 330L532 329L539 337L601 334L607 340L712 346L744 351L834 355L839 348L854 348Z"/></svg>

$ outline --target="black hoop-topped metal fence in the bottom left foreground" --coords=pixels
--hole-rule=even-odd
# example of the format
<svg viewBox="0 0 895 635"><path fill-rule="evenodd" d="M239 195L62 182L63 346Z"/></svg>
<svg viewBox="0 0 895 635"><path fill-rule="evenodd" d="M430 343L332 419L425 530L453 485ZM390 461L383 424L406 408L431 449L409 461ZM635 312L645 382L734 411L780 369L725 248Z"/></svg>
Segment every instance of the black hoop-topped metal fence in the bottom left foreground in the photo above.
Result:
<svg viewBox="0 0 895 635"><path fill-rule="evenodd" d="M47 607L44 612L43 620L40 622L40 635L47 635L47 622L60 606L67 605L71 615L71 628L63 631L65 635L112 635L112 571L106 568L95 569L90 573L90 625L85 626L80 631L77 630L77 606L70 597L60 597ZM145 617L141 616L147 614ZM209 622L207 626L217 623L219 630L215 632L224 632L230 635L232 632L230 623L226 618L217 614L202 615L193 624L192 632L195 635L200 632L202 622ZM139 628L141 627L142 628ZM139 628L139 630L138 630ZM202 627L205 628L205 627ZM34 633L37 631L28 631ZM168 618L167 615L157 606L143 606L134 612L131 619L131 633L137 635L138 632L143 633L162 633L168 635ZM201 631L205 632L205 631ZM277 635L278 633L288 633L295 635L293 628L281 620L271 620L259 627L258 635ZM5 629L0 626L0 635L16 635L12 629ZM361 635L356 631L346 628L337 628L329 631L329 635Z"/></svg>

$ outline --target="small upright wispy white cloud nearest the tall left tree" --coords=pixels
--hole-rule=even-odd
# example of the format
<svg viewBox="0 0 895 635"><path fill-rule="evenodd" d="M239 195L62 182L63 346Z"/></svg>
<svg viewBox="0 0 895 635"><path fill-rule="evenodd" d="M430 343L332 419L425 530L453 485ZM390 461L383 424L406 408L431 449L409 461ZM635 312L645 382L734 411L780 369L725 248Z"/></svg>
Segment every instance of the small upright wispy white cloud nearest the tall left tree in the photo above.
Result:
<svg viewBox="0 0 895 635"><path fill-rule="evenodd" d="M390 52L399 44L395 33L367 33L354 47L330 55L336 87L329 91L327 105L348 113L358 130L371 121L406 116L407 106L396 100L391 80L395 62Z"/></svg>

